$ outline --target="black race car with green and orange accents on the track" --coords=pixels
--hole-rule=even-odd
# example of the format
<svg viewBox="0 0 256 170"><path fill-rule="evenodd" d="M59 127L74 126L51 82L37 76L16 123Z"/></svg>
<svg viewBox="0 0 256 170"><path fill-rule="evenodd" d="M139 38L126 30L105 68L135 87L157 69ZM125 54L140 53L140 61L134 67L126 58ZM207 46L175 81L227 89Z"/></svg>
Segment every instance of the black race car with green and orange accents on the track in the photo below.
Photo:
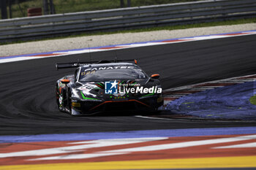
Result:
<svg viewBox="0 0 256 170"><path fill-rule="evenodd" d="M99 112L156 112L162 107L159 74L151 77L136 60L56 63L56 69L76 68L56 82L61 112L95 115Z"/></svg>

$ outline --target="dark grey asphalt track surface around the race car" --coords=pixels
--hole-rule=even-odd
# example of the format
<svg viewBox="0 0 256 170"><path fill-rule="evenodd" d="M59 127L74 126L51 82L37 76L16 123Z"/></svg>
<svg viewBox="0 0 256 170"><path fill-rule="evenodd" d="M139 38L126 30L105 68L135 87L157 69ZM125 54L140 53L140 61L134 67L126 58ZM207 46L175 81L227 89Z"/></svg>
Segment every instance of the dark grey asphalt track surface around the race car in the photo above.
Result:
<svg viewBox="0 0 256 170"><path fill-rule="evenodd" d="M148 74L159 73L164 89L256 74L256 35L115 50L119 59L137 58ZM64 134L173 128L252 126L255 123L154 120L132 114L73 117L56 107L55 82L73 69L55 63L108 60L114 50L0 64L0 135ZM91 55L91 57L89 56ZM171 113L170 113L171 114Z"/></svg>

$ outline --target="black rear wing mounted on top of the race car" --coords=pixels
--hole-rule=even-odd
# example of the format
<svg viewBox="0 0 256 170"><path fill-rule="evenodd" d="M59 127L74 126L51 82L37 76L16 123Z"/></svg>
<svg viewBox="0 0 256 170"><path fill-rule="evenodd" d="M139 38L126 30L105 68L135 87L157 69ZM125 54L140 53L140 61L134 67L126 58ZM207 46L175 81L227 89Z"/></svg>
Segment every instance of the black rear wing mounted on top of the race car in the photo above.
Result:
<svg viewBox="0 0 256 170"><path fill-rule="evenodd" d="M77 62L77 63L56 63L56 69L68 69L77 68L78 66L86 66L92 63L120 63L120 62L132 62L138 64L137 60L113 60L113 61L90 61L90 62Z"/></svg>

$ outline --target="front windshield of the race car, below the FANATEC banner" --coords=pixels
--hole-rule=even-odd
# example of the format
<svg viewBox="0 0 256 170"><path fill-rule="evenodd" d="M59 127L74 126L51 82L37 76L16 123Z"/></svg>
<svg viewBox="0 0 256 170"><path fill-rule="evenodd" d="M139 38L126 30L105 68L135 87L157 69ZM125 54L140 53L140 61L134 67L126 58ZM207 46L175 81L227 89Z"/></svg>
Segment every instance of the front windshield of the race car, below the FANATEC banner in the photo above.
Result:
<svg viewBox="0 0 256 170"><path fill-rule="evenodd" d="M81 82L97 82L106 80L141 80L147 76L141 69L105 69L81 70Z"/></svg>

